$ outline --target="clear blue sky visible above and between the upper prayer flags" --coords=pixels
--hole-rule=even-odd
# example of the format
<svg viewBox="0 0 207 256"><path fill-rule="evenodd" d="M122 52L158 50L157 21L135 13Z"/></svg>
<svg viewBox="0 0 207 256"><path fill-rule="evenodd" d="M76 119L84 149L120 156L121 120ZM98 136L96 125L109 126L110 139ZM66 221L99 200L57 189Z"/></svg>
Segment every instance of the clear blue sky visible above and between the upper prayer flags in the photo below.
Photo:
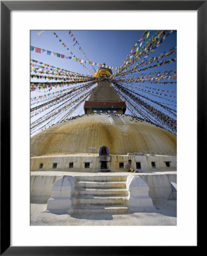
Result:
<svg viewBox="0 0 207 256"><path fill-rule="evenodd" d="M58 39L52 34L51 31L45 31L40 36L37 36L38 31L31 31L31 46L47 49L49 51L61 53L67 56L71 54L66 48L59 42ZM86 56L90 61L96 63L104 63L113 67L119 67L127 54L131 51L134 44L142 36L144 31L136 30L111 30L111 31L81 31L74 30L72 34L76 38L79 46L76 44L73 46L73 36L69 35L69 31L55 31L61 40L67 45L67 47L76 55L76 57L85 60L84 54L79 50L79 46L86 53ZM154 31L155 32L155 31ZM160 45L155 51L154 56L167 51L172 46L176 46L176 33L170 35L162 45ZM39 60L41 62L54 65L59 68L67 69L78 73L84 73L88 75L88 71L80 63L74 60L60 59L56 56L49 56L46 52L35 53L31 52L31 59ZM86 64L86 67L92 71L93 68L90 64ZM94 67L97 68L97 67ZM176 64L172 63L168 65L169 69L175 69ZM160 67L159 71L165 70L166 66ZM150 72L158 71L158 68L150 69Z"/></svg>

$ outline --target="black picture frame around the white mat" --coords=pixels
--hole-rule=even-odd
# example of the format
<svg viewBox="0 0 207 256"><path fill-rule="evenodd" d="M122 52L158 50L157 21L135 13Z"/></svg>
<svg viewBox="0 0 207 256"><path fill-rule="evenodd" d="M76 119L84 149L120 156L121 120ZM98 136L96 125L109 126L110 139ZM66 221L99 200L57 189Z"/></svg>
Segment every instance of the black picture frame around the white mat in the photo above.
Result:
<svg viewBox="0 0 207 256"><path fill-rule="evenodd" d="M206 155L207 1L1 1L1 255L148 255L160 250L159 246L10 246L10 184L5 181L10 181L11 160L10 13L13 10L197 10L198 175ZM176 249L171 247L170 252L175 253ZM191 252L197 249L198 243L191 247ZM169 247L162 247L162 253L168 254Z"/></svg>

